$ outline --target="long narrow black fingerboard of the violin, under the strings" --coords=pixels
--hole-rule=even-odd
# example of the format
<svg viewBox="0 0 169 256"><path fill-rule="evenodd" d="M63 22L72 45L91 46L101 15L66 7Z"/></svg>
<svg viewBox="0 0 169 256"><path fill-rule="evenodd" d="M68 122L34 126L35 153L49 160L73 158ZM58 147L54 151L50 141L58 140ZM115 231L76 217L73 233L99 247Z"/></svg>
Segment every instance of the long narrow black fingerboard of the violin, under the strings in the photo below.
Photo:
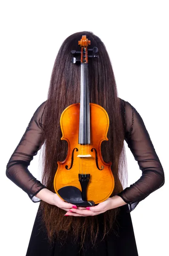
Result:
<svg viewBox="0 0 169 256"><path fill-rule="evenodd" d="M88 63L81 63L79 144L90 144Z"/></svg>

